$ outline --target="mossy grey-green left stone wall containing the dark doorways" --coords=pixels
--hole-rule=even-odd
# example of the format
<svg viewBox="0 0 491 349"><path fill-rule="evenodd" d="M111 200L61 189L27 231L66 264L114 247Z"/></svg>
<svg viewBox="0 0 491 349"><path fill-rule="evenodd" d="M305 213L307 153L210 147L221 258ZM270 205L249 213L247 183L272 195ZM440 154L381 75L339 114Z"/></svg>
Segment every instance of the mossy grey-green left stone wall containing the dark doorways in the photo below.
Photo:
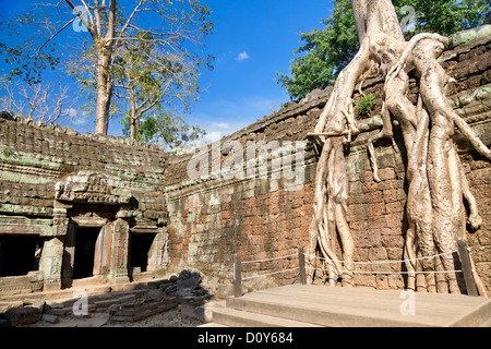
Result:
<svg viewBox="0 0 491 349"><path fill-rule="evenodd" d="M36 241L45 290L60 288L62 279L71 285L81 228L100 230L94 276L128 278L131 233L156 234L148 269L164 268L168 262L164 169L165 155L158 146L80 135L69 128L2 115L0 272L10 277L0 282L0 294L38 288L38 282L22 281L26 277L5 265L15 263L5 256L19 240L14 237ZM13 286L15 277L19 282Z"/></svg>

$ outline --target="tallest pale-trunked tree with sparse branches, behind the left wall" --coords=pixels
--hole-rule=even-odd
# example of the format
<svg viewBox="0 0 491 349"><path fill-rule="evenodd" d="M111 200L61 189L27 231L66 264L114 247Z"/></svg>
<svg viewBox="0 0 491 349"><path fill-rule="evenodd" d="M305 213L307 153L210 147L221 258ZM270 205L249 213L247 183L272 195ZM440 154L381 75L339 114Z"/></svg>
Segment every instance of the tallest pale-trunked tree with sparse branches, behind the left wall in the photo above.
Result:
<svg viewBox="0 0 491 349"><path fill-rule="evenodd" d="M17 56L17 63L26 68L16 67L12 74L25 74L24 77L33 83L40 80L39 69L51 67L59 61L55 39L60 33L70 27L87 32L89 41L77 45L79 48L84 47L86 50L80 52L80 64L72 64L71 72L85 85L95 87L97 96L95 133L105 135L113 97L113 63L116 53L124 47L124 44L152 41L161 50L185 57L196 64L209 61L208 58L189 50L192 44L201 44L213 28L213 23L207 20L211 10L202 5L200 0L141 0L132 1L131 7L127 4L128 2L118 0L80 0L80 3L72 0L59 1L47 8L48 13L41 14L37 10L15 20L17 24L36 25L44 29L43 35L47 39L38 45L34 53L25 55L25 51L32 48L31 44L27 47L14 48L3 44L0 45L0 49L13 60ZM70 20L67 20L68 10L73 13ZM59 20L56 20L57 13ZM39 41L39 36L35 41ZM29 60L26 60L26 57ZM94 64L91 75L85 74L87 71L77 69L84 67L83 63L87 61Z"/></svg>

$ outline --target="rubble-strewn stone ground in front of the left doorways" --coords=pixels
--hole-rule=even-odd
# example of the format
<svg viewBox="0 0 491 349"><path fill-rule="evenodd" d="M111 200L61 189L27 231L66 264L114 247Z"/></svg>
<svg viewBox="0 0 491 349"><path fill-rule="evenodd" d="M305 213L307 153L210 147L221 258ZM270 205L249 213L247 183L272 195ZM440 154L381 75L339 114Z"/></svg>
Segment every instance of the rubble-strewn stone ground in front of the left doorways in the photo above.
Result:
<svg viewBox="0 0 491 349"><path fill-rule="evenodd" d="M10 306L14 312L2 314L0 311L0 318L9 318L11 325L17 327L196 327L204 324L201 305L213 298L200 274L190 270L182 270L169 279L141 280L118 285L118 288L91 281L84 280L79 286L88 294L86 315L74 313L80 305L74 302L81 298L68 289L52 294L5 298L10 303L3 302L3 306ZM19 312L17 303L21 304ZM2 322L0 327L5 325L5 320Z"/></svg>

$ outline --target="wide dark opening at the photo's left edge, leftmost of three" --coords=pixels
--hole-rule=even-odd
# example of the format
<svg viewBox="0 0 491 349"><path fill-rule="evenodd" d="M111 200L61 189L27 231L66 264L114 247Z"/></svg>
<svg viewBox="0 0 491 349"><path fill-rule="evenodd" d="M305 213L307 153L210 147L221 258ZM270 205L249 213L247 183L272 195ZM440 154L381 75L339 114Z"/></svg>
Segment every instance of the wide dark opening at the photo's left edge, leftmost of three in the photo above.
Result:
<svg viewBox="0 0 491 349"><path fill-rule="evenodd" d="M0 277L39 270L43 243L35 237L0 236Z"/></svg>

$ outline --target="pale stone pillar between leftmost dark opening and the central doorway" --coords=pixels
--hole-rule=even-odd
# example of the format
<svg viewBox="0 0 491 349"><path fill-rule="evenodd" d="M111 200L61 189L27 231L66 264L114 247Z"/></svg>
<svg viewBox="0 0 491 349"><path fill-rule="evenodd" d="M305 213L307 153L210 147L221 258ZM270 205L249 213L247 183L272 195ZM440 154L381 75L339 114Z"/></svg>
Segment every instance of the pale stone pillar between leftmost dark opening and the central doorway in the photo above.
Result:
<svg viewBox="0 0 491 349"><path fill-rule="evenodd" d="M63 262L64 237L53 237L45 241L39 268L44 273L44 291L61 289L61 266Z"/></svg>

